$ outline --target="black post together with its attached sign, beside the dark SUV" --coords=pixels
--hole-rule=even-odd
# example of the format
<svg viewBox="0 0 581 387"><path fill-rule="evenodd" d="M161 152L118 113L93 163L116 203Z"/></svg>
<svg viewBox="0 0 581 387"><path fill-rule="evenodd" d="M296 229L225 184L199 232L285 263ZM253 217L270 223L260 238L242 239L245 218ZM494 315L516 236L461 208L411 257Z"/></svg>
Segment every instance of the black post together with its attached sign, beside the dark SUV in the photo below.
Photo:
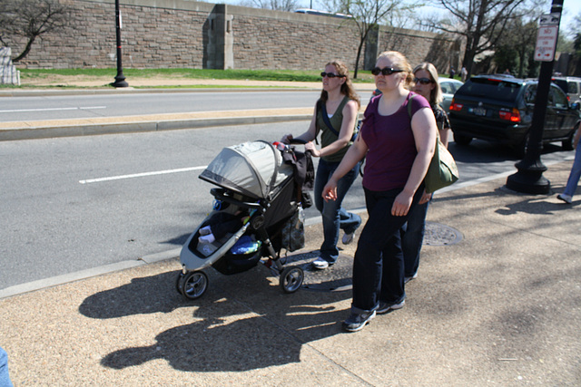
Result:
<svg viewBox="0 0 581 387"><path fill-rule="evenodd" d="M553 0L551 15L543 15L540 21L535 60L542 61L542 63L538 76L533 122L528 134L527 151L525 158L515 164L518 169L517 173L507 178L507 188L517 192L547 194L551 189L550 181L543 176L543 172L547 170L547 167L541 161L541 150L543 149L543 130L547 115L548 92L551 76L553 75L558 23L561 18L562 8L563 0ZM543 25L544 23L546 25ZM555 44L552 44L553 38Z"/></svg>

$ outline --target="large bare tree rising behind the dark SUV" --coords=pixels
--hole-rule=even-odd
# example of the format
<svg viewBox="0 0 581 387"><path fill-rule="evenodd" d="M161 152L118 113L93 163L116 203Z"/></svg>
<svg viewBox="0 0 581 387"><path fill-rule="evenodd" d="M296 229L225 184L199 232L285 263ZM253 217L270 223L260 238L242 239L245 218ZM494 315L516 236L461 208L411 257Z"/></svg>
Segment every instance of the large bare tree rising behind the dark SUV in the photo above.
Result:
<svg viewBox="0 0 581 387"><path fill-rule="evenodd" d="M465 37L466 52L462 63L470 74L475 56L493 49L505 33L507 24L525 14L520 9L525 1L438 0L438 5L449 11L451 19L427 23L436 30Z"/></svg>

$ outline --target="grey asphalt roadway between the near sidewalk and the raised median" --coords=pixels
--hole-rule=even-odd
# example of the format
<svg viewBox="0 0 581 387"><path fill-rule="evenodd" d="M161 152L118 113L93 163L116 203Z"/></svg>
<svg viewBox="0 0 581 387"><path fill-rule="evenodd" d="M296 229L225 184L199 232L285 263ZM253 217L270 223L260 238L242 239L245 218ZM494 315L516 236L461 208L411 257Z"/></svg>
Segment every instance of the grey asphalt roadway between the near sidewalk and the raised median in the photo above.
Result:
<svg viewBox="0 0 581 387"><path fill-rule="evenodd" d="M0 289L181 247L212 208L202 169L224 146L307 121L0 142ZM516 171L510 150L450 144L466 183ZM550 163L572 152L547 147ZM345 208L363 208L360 179ZM314 208L307 217L318 216Z"/></svg>

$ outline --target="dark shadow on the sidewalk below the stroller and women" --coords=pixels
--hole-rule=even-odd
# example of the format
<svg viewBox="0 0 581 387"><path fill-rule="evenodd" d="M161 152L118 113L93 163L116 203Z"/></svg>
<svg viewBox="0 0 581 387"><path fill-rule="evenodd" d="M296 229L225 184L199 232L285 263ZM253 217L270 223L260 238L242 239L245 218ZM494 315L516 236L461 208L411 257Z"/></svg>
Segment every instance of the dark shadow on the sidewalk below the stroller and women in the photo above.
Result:
<svg viewBox="0 0 581 387"><path fill-rule="evenodd" d="M175 317L170 313L178 308L193 311L192 324L157 334L153 345L109 353L103 357L103 366L124 369L164 359L181 371L220 372L297 363L304 343L340 333L340 321L348 312L335 303L351 297L350 292L306 289L284 295L278 279L272 280L270 271L259 266L235 276L208 273L212 286L208 293L188 301L175 289L178 273L133 278L130 284L84 300L80 313L96 319L158 313L171 319ZM337 273L331 277L330 287L338 281ZM129 320L128 329L131 324Z"/></svg>

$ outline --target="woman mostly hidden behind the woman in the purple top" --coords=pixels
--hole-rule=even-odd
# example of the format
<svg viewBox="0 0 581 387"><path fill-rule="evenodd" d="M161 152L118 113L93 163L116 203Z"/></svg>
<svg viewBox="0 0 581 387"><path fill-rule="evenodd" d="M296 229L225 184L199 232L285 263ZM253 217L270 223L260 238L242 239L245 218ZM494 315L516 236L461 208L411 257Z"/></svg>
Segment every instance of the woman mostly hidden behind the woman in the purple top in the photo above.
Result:
<svg viewBox="0 0 581 387"><path fill-rule="evenodd" d="M439 138L448 147L450 122L446 111L439 106L439 102L442 102L442 91L438 82L438 70L432 63L420 63L414 69L414 83L412 90L428 100L436 118ZM408 222L401 228L401 249L405 261L404 281L406 283L418 276L419 252L424 240L426 216L431 198L432 194L424 192L418 206L410 211Z"/></svg>

